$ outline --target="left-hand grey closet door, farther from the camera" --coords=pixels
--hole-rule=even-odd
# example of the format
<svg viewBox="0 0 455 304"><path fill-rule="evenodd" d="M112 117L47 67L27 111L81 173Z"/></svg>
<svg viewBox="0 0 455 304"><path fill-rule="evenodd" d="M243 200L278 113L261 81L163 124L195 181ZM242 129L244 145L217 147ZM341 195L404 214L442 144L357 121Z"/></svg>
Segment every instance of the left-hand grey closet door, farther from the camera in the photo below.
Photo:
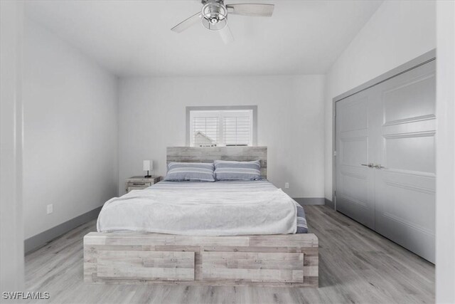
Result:
<svg viewBox="0 0 455 304"><path fill-rule="evenodd" d="M370 91L336 103L336 210L374 229Z"/></svg>

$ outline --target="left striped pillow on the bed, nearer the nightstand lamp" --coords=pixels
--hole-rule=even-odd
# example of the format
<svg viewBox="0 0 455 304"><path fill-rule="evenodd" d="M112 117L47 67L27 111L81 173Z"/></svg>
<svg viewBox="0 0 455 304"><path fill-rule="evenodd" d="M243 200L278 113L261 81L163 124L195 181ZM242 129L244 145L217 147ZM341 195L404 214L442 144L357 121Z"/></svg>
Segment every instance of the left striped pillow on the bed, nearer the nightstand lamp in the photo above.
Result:
<svg viewBox="0 0 455 304"><path fill-rule="evenodd" d="M204 162L170 162L165 181L215 182L213 164Z"/></svg>

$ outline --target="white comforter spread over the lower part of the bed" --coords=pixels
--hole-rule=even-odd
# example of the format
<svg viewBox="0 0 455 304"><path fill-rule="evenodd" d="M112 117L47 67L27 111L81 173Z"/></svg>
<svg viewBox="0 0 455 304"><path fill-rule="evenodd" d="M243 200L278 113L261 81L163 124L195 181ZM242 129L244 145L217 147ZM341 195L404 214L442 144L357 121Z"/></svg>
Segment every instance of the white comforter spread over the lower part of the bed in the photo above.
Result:
<svg viewBox="0 0 455 304"><path fill-rule="evenodd" d="M296 203L269 192L132 191L105 203L97 230L235 236L296 233Z"/></svg>

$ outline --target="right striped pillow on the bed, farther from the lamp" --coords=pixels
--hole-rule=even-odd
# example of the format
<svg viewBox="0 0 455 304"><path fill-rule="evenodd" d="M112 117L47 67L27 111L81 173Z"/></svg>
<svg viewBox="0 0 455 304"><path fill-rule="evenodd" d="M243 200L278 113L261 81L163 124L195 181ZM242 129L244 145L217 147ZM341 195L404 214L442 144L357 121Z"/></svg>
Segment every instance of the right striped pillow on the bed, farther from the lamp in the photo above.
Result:
<svg viewBox="0 0 455 304"><path fill-rule="evenodd" d="M219 181L261 179L261 164L253 162L235 162L215 160L215 178Z"/></svg>

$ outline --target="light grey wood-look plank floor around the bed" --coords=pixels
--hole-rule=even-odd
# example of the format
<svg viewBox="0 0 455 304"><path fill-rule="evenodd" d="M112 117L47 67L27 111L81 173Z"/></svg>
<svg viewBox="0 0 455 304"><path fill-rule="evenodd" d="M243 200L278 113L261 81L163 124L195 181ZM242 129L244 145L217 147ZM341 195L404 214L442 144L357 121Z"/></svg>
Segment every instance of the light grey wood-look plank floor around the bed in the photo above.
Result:
<svg viewBox="0 0 455 304"><path fill-rule="evenodd" d="M26 288L48 291L51 303L434 302L432 263L326 206L305 211L319 237L319 288L89 285L82 278L82 237L95 231L95 221L28 254Z"/></svg>

